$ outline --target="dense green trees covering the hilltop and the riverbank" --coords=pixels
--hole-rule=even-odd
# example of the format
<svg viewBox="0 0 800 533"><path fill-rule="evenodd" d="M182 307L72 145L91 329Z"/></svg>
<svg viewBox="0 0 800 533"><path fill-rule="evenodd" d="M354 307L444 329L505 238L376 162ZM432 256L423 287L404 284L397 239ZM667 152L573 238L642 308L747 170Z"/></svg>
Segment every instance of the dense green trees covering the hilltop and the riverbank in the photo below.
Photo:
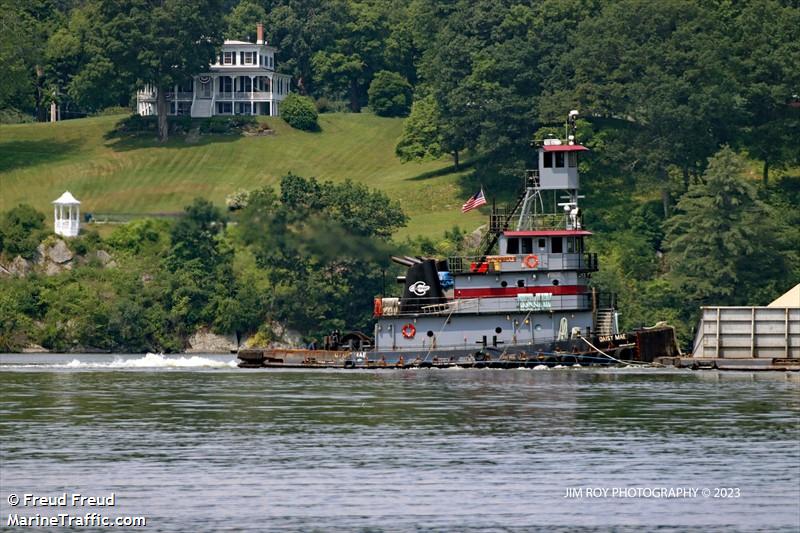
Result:
<svg viewBox="0 0 800 533"><path fill-rule="evenodd" d="M452 158L465 198L480 184L510 200L531 140L579 109L593 283L619 294L625 327L668 320L686 341L699 306L764 304L800 281L794 1L3 0L0 17L4 122L45 120L52 101L67 118L129 108L264 22L294 91L320 112L408 115L397 156ZM365 327L390 250L466 246L457 228L393 242L401 206L361 184L287 176L244 203L236 224L198 200L173 224L71 243L114 269L2 279L0 350ZM5 213L6 259L32 256L43 228L25 206Z"/></svg>

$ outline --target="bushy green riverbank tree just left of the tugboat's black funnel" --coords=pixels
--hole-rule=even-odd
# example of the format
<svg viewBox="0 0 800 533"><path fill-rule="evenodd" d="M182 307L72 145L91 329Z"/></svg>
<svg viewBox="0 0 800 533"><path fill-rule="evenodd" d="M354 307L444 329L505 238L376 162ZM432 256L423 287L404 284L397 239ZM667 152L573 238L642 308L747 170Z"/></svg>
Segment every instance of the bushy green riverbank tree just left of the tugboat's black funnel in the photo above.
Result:
<svg viewBox="0 0 800 533"><path fill-rule="evenodd" d="M386 239L405 220L385 194L349 181L288 175L280 194L251 193L238 229L267 273L268 316L309 335L367 327Z"/></svg>

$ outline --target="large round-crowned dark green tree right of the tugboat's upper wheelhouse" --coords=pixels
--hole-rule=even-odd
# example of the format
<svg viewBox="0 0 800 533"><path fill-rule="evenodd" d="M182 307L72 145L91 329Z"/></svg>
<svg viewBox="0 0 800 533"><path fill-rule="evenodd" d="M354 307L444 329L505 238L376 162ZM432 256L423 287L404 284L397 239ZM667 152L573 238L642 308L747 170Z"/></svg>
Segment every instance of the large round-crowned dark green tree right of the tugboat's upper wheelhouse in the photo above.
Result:
<svg viewBox="0 0 800 533"><path fill-rule="evenodd" d="M739 120L731 36L711 4L690 0L604 6L584 19L563 57L556 98L574 94L582 109L626 132L625 161L654 179L665 216L669 168L684 187L698 176ZM551 86L552 87L552 86ZM588 108L588 109L587 109Z"/></svg>

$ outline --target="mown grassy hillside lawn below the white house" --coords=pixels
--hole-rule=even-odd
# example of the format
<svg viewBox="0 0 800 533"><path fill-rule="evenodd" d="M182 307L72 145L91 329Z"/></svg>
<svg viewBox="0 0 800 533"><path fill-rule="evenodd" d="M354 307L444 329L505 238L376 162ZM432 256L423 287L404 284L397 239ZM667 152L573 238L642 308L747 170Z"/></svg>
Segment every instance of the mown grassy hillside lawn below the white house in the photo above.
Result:
<svg viewBox="0 0 800 533"><path fill-rule="evenodd" d="M454 224L473 228L480 213L462 215L466 195L449 161L402 164L394 147L401 119L325 114L321 132L293 130L268 118L276 135L109 139L121 116L57 124L0 126L0 211L26 202L45 213L70 190L83 211L146 215L181 211L193 198L220 206L238 189L275 184L293 172L351 178L401 202L411 221L401 235L435 236ZM50 221L52 223L52 221Z"/></svg>

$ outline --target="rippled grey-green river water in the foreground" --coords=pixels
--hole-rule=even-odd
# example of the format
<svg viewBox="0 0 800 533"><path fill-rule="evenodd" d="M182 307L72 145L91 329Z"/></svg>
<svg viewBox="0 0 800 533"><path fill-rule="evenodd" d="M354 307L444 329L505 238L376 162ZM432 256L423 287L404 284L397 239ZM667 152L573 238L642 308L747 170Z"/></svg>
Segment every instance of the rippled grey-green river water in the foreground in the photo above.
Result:
<svg viewBox="0 0 800 533"><path fill-rule="evenodd" d="M0 355L0 530L797 531L799 378Z"/></svg>

